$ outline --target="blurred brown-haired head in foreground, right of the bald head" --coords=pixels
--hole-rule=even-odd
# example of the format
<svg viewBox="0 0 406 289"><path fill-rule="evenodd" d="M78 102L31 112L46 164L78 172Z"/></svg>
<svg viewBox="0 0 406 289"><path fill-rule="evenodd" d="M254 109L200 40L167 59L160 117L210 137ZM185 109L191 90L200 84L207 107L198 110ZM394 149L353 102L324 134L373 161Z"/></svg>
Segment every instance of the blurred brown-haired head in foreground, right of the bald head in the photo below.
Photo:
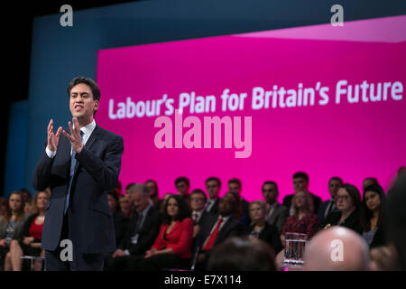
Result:
<svg viewBox="0 0 406 289"><path fill-rule="evenodd" d="M393 246L374 247L369 250L370 268L372 271L397 270L397 255Z"/></svg>

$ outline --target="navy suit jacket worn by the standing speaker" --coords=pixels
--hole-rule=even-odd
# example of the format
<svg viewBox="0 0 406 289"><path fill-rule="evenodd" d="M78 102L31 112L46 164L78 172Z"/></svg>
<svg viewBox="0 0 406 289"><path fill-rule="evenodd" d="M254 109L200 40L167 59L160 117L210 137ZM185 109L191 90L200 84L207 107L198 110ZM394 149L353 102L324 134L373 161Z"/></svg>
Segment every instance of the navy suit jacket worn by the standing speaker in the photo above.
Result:
<svg viewBox="0 0 406 289"><path fill-rule="evenodd" d="M46 144L45 144L46 146ZM42 231L42 248L55 250L60 244L63 210L68 194L70 143L60 135L53 159L42 152L32 175L32 186L43 191L51 186ZM121 169L123 138L96 126L80 154L69 198L69 239L81 253L115 251L115 230L107 191L114 189Z"/></svg>

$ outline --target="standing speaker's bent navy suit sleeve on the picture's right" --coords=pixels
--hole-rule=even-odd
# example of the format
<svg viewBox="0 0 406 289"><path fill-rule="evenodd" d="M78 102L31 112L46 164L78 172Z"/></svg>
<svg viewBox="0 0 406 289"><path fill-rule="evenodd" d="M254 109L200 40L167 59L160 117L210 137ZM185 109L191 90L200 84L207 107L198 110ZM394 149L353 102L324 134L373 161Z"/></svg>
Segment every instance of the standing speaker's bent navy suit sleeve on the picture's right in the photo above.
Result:
<svg viewBox="0 0 406 289"><path fill-rule="evenodd" d="M118 136L106 149L104 160L83 147L76 155L78 162L83 165L92 178L106 191L112 190L117 184L121 169L121 156L124 153L123 137Z"/></svg>

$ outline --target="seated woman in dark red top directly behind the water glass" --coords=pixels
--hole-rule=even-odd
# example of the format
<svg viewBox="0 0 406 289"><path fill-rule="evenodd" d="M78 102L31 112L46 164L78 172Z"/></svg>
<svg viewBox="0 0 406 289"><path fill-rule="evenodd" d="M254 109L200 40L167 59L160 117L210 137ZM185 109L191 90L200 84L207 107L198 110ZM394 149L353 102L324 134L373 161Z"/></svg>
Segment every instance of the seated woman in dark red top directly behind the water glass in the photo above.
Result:
<svg viewBox="0 0 406 289"><path fill-rule="evenodd" d="M318 216L311 210L311 196L306 191L299 191L293 196L293 215L286 219L281 233L281 242L285 246L286 233L307 234L311 238L318 230Z"/></svg>

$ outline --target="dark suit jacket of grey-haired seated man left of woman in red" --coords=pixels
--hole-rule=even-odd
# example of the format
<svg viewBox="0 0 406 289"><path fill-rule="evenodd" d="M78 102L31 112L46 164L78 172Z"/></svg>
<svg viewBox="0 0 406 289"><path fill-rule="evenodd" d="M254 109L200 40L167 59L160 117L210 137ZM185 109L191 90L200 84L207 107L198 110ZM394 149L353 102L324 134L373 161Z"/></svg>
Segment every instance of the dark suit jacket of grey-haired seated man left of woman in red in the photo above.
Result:
<svg viewBox="0 0 406 289"><path fill-rule="evenodd" d="M149 250L158 237L161 227L160 211L155 207L151 207L143 220L143 227L140 229L137 244L131 244L131 238L134 236L138 216L138 212L135 211L127 226L125 237L118 245L120 249L128 250L131 255L143 255Z"/></svg>

